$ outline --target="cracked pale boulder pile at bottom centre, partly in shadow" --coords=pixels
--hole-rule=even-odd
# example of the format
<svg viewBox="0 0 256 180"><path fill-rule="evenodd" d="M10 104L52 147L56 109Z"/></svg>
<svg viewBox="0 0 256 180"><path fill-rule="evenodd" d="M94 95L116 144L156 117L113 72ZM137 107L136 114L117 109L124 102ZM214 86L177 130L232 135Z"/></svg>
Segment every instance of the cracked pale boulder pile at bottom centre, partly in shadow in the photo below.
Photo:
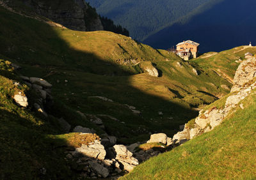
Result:
<svg viewBox="0 0 256 180"><path fill-rule="evenodd" d="M103 146L104 139L90 139L90 137L95 137L95 134L80 133L79 136L83 139L81 145L74 151L67 151L66 157L67 161L72 162L70 169L81 172L80 175L83 178L117 179L121 176L120 173L125 170L131 172L139 164L127 147L113 144L116 142L115 137L107 136L111 147L106 149ZM84 137L89 137L89 139L86 140ZM108 151L112 151L113 157L109 156Z"/></svg>

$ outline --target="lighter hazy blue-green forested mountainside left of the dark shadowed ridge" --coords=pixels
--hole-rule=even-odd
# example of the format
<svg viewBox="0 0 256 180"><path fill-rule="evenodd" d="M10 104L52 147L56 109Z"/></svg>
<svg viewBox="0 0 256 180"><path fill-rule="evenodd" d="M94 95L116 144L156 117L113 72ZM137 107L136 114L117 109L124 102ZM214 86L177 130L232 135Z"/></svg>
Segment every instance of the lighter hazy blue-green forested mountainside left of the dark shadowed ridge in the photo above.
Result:
<svg viewBox="0 0 256 180"><path fill-rule="evenodd" d="M138 40L218 1L221 0L88 0L100 15L127 28Z"/></svg>

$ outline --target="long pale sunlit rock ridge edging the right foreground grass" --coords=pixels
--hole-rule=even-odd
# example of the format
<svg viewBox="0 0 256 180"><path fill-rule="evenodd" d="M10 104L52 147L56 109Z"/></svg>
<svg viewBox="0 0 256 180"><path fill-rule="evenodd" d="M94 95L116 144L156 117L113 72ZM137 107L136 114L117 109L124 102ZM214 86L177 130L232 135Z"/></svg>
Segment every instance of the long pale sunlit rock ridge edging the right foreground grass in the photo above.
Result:
<svg viewBox="0 0 256 180"><path fill-rule="evenodd" d="M230 96L225 101L225 106L221 109L211 107L208 110L201 110L199 116L196 117L193 126L186 124L183 131L173 136L175 144L182 144L186 140L213 130L220 125L228 114L234 113L237 107L243 109L243 104L239 103L244 100L253 89L256 88L256 58L252 57L243 61L239 65L234 77L234 86L231 89Z"/></svg>

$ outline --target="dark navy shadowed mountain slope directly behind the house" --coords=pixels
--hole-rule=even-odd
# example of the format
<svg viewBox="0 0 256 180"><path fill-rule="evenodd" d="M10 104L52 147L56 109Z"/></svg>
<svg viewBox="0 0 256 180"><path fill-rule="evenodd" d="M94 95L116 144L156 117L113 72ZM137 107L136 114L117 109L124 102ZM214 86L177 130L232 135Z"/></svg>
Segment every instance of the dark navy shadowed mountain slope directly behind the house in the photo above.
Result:
<svg viewBox="0 0 256 180"><path fill-rule="evenodd" d="M151 34L143 43L168 49L182 40L200 43L200 52L227 50L248 45L255 39L255 1L225 0L214 4L188 20L177 21ZM216 38L218 37L218 38Z"/></svg>

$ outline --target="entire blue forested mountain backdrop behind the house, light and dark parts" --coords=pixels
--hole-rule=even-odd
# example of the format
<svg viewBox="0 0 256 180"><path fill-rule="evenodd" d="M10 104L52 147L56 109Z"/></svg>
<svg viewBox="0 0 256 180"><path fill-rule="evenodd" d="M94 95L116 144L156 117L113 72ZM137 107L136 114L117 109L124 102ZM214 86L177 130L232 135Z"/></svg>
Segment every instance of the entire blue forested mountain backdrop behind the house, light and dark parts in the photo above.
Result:
<svg viewBox="0 0 256 180"><path fill-rule="evenodd" d="M256 38L254 0L88 1L132 38L157 49L190 39L200 43L200 52L219 52Z"/></svg>

